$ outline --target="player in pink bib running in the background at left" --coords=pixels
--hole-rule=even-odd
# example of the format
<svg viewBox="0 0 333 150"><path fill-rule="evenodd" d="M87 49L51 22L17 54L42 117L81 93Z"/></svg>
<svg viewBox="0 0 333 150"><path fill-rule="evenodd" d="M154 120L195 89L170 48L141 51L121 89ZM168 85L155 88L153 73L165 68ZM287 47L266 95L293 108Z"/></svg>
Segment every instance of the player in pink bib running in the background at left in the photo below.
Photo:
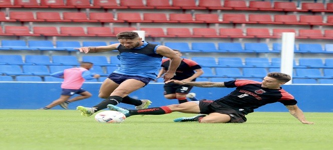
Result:
<svg viewBox="0 0 333 150"><path fill-rule="evenodd" d="M63 92L58 99L52 101L41 109L50 109L58 104L60 104L61 107L68 109L68 104L70 102L91 97L92 94L89 91L82 89L81 86L85 80L100 77L99 74L91 73L89 71L92 67L93 63L91 62L81 62L80 67L68 68L63 71L52 73L51 76L53 77L64 78L64 81L61 84ZM74 94L80 94L80 96L69 99Z"/></svg>

